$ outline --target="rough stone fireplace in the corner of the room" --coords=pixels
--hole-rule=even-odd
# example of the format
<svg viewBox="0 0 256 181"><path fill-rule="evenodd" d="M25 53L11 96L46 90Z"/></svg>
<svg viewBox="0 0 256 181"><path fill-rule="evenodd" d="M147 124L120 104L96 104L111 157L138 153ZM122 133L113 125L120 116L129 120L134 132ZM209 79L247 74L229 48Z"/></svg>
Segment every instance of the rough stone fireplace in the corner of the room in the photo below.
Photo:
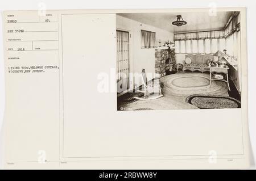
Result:
<svg viewBox="0 0 256 181"><path fill-rule="evenodd" d="M155 72L160 77L166 75L166 71L173 71L175 65L174 48L156 48L155 49Z"/></svg>

